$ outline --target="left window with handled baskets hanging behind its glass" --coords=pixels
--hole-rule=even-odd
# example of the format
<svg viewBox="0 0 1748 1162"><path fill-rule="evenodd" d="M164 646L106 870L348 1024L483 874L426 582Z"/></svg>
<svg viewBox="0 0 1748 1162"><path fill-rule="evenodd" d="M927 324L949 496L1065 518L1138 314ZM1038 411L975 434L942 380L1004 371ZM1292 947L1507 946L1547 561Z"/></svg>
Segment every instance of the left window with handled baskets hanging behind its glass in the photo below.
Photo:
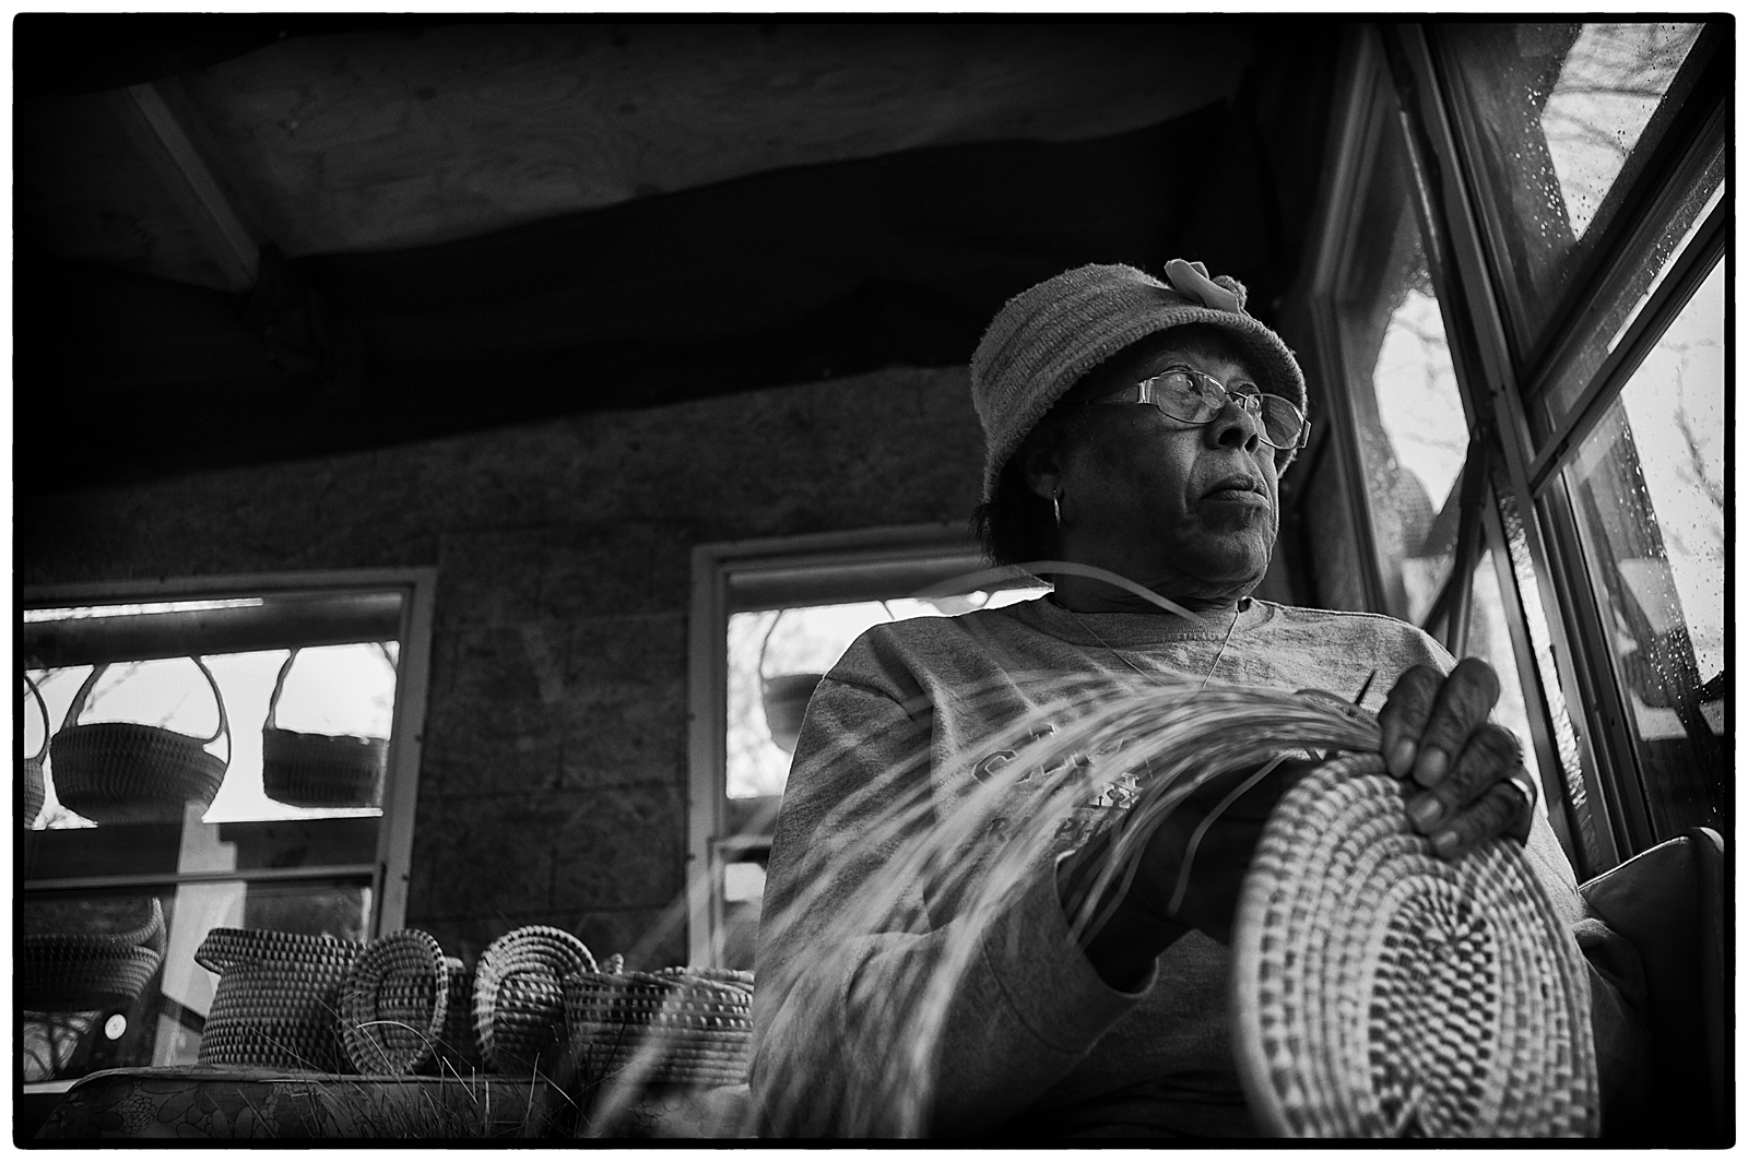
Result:
<svg viewBox="0 0 1748 1162"><path fill-rule="evenodd" d="M400 926L430 592L427 571L24 592L26 1083L196 1061L212 928Z"/></svg>

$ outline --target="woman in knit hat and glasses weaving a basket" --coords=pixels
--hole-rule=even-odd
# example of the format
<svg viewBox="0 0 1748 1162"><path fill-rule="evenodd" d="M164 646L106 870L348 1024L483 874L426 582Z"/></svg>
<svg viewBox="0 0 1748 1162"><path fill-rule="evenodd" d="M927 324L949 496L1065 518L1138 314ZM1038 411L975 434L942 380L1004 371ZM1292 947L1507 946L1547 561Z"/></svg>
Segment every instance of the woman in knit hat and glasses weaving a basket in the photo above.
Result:
<svg viewBox="0 0 1748 1162"><path fill-rule="evenodd" d="M767 921L804 898L822 919L843 907L837 889L822 895L804 882L806 853L874 827L884 804L932 778L932 762L975 757L979 739L1035 706L1035 688L1019 676L1052 673L1346 697L1369 690L1363 704L1379 715L1386 765L1409 781L1407 811L1433 849L1456 858L1500 835L1524 840L1580 944L1619 952L1606 930L1582 919L1517 739L1489 722L1500 692L1491 667L1453 662L1425 633L1388 617L1250 596L1274 547L1281 472L1306 440L1304 379L1287 344L1245 313L1238 281L1183 260L1166 278L1086 266L1026 290L995 318L972 360L988 446L975 524L996 563L1110 570L1199 622L1065 573L1037 601L864 634L808 708L771 849ZM961 695L968 690L977 697ZM986 762L1009 757L996 750ZM1126 806L1092 795L1061 832L1065 854L975 937L981 947L933 1055L930 1129L1252 1132L1227 1033L1225 945L1262 820L1304 767L1285 764L1206 828L1173 910L1196 825L1243 772L1197 792L1152 835L1133 881L1112 889L1110 919L1077 937L1068 916L1091 888L1089 853L1108 827L1122 827ZM767 923L753 1059L767 1131L841 1129L836 1111L871 1068L855 1048L865 1036L855 1027L858 989L902 979L869 966L925 963L954 938L953 903L932 898L926 884L893 914L909 919L857 940L857 963L829 989L837 1003L825 1012L795 1005L787 987L818 959L809 926ZM1634 1052L1634 1024L1594 972L1592 993L1605 1083L1613 1083L1615 1059ZM801 1082L797 1069L808 1075Z"/></svg>

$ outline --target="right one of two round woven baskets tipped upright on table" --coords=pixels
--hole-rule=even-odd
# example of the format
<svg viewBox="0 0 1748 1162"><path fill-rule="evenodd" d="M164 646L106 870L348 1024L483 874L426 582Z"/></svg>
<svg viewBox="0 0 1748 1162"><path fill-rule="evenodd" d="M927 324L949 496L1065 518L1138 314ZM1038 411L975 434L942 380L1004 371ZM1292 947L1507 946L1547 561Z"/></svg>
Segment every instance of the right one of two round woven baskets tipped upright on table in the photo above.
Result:
<svg viewBox="0 0 1748 1162"><path fill-rule="evenodd" d="M530 1075L558 1059L565 1022L565 977L594 972L594 956L559 928L507 931L479 958L474 1029L486 1068Z"/></svg>

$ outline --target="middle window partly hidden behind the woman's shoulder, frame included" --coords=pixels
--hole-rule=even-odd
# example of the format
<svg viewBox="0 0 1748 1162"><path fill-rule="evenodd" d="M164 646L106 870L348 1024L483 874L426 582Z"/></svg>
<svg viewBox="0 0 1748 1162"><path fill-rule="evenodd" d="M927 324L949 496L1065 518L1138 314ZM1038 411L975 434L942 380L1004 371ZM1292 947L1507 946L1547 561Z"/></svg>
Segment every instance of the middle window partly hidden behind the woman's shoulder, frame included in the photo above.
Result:
<svg viewBox="0 0 1748 1162"><path fill-rule="evenodd" d="M871 626L949 617L1047 592L984 582L916 598L982 571L953 526L701 545L692 559L690 956L753 968L771 828L790 751L820 676Z"/></svg>

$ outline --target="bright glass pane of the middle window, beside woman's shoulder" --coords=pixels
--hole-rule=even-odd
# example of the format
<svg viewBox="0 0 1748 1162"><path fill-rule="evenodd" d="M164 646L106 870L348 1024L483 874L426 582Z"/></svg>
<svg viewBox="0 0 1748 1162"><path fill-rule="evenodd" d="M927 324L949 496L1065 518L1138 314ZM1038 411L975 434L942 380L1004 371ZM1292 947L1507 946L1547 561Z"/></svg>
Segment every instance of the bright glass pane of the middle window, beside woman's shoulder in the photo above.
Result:
<svg viewBox="0 0 1748 1162"><path fill-rule="evenodd" d="M788 758L801 715L820 676L862 631L911 617L951 617L975 608L1030 601L1047 589L1002 589L967 596L893 598L850 605L790 606L729 617L727 793L769 799L788 783ZM774 807L774 802L773 802ZM731 813L732 814L732 813ZM767 827L762 830L769 830Z"/></svg>

